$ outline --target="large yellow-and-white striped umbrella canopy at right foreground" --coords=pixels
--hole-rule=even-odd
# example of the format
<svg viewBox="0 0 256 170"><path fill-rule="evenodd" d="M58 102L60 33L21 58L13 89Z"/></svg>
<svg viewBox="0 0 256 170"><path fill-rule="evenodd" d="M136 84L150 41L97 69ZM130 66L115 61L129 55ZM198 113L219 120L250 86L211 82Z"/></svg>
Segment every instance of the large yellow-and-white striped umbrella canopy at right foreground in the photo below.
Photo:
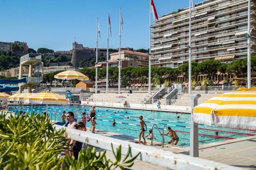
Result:
<svg viewBox="0 0 256 170"><path fill-rule="evenodd" d="M256 130L256 87L239 88L197 105L193 119L217 127Z"/></svg>

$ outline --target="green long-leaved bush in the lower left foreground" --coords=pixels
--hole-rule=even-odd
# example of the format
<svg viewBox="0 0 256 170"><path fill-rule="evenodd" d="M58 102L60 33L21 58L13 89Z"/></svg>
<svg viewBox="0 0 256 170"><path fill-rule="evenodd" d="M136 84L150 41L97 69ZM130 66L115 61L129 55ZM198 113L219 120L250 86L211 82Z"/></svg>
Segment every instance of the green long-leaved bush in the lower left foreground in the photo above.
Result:
<svg viewBox="0 0 256 170"><path fill-rule="evenodd" d="M65 130L56 130L53 123L43 115L31 116L0 113L0 170L129 170L139 153L121 160L121 146L113 150L116 160L107 159L104 152L82 149L78 161L68 155L59 159L58 154L67 149Z"/></svg>

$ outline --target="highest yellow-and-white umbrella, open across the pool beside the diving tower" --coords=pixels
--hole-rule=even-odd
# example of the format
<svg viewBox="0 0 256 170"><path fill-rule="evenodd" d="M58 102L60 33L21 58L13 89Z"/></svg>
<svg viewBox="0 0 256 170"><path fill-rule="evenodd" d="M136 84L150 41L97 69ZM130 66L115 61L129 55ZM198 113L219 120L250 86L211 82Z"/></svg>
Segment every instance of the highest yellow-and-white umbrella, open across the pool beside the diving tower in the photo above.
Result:
<svg viewBox="0 0 256 170"><path fill-rule="evenodd" d="M63 71L63 72L60 72L59 74L56 74L54 78L61 79L61 80L75 80L75 79L89 80L89 78L86 75L78 71Z"/></svg>

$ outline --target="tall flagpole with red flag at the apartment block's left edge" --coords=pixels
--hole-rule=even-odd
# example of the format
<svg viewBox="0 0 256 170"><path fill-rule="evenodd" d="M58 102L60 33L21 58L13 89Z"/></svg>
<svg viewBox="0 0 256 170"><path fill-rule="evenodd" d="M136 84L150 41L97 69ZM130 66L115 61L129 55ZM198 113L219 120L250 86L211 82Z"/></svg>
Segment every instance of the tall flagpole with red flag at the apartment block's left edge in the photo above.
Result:
<svg viewBox="0 0 256 170"><path fill-rule="evenodd" d="M148 93L151 93L151 0L149 0Z"/></svg>

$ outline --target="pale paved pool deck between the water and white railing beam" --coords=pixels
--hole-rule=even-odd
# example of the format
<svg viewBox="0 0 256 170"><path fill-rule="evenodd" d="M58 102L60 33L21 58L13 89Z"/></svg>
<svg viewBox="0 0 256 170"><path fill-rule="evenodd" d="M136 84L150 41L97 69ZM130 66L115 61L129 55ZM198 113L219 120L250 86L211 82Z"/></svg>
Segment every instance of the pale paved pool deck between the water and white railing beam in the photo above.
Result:
<svg viewBox="0 0 256 170"><path fill-rule="evenodd" d="M121 135L113 132L98 130L97 133L103 136L114 137L130 142L138 141L136 137ZM155 141L152 146L150 140L147 140L147 145L174 153L189 154L189 148L169 144L165 144L164 148L162 148L161 143ZM256 136L248 136L200 145L199 157L239 168L256 170ZM136 161L133 169L136 170L137 166L140 170L144 170L143 168L145 168L145 170L151 170L151 168L152 170L165 170L161 167L141 161Z"/></svg>

